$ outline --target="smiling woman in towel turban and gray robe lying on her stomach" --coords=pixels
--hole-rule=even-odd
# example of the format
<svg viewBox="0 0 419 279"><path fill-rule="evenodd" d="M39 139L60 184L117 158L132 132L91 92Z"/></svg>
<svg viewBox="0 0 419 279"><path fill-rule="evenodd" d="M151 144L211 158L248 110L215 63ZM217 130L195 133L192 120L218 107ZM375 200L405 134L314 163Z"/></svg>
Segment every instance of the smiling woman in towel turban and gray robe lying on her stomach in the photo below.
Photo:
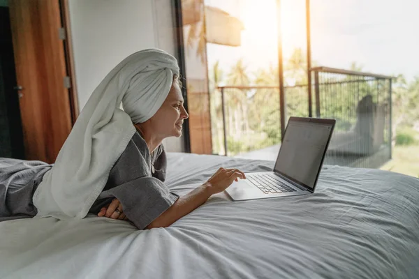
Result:
<svg viewBox="0 0 419 279"><path fill-rule="evenodd" d="M234 180L244 179L237 169L221 168L184 197L164 185L161 142L182 135L188 118L177 77L176 59L161 50L136 52L119 63L91 94L54 166L41 166L40 175L27 183L33 205L18 213L68 219L91 212L127 218L138 229L167 227ZM6 189L13 188L8 181ZM16 213L13 204L9 207ZM1 208L0 214L7 217Z"/></svg>

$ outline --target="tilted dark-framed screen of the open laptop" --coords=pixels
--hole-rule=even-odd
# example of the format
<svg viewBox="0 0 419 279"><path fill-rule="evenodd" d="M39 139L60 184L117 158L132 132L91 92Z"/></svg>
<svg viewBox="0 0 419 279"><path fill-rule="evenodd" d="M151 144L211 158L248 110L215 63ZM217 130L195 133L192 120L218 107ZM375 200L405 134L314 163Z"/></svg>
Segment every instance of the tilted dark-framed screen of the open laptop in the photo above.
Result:
<svg viewBox="0 0 419 279"><path fill-rule="evenodd" d="M274 171L314 188L333 123L288 121Z"/></svg>

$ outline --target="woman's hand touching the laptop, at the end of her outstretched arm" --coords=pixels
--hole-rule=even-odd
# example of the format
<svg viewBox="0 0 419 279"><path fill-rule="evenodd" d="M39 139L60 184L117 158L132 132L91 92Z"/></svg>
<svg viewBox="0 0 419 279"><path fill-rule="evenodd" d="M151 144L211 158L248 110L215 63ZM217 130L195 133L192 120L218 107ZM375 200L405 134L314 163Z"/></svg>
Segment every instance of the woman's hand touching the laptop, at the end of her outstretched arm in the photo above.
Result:
<svg viewBox="0 0 419 279"><path fill-rule="evenodd" d="M223 167L220 167L219 170L208 179L207 183L210 184L210 192L213 195L223 192L223 190L226 190L233 181L238 181L238 179L246 179L244 172L241 172L238 169L224 169Z"/></svg>

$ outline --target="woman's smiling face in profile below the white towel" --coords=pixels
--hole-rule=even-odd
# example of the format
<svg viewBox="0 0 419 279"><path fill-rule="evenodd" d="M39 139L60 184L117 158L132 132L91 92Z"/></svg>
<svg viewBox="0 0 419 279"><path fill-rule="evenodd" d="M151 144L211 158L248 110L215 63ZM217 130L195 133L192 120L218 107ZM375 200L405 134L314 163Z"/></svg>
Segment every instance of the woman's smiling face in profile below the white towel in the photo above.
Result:
<svg viewBox="0 0 419 279"><path fill-rule="evenodd" d="M180 137L182 135L183 121L189 117L183 104L182 91L179 84L175 81L163 105L147 121L149 122L149 127L152 127L152 133L161 139Z"/></svg>

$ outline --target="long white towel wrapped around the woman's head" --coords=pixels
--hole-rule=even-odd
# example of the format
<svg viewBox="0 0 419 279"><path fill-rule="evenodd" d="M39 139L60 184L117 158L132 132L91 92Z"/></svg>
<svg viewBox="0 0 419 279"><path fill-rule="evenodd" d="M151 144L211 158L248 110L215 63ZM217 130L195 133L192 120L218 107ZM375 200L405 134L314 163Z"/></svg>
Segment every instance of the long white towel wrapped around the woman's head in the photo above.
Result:
<svg viewBox="0 0 419 279"><path fill-rule="evenodd" d="M36 216L84 218L103 190L110 169L135 133L159 110L179 75L163 50L135 52L96 87L62 146L54 167L34 193ZM121 104L123 110L119 109Z"/></svg>

